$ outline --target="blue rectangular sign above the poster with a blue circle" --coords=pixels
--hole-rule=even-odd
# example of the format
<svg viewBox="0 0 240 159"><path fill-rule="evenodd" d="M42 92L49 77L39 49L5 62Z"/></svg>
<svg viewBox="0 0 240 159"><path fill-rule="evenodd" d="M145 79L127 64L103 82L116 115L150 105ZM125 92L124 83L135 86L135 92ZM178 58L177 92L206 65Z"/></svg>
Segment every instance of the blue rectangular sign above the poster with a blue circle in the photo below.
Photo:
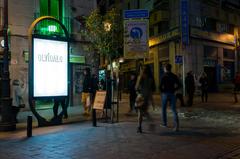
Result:
<svg viewBox="0 0 240 159"><path fill-rule="evenodd" d="M145 9L124 10L124 19L149 18L149 11Z"/></svg>

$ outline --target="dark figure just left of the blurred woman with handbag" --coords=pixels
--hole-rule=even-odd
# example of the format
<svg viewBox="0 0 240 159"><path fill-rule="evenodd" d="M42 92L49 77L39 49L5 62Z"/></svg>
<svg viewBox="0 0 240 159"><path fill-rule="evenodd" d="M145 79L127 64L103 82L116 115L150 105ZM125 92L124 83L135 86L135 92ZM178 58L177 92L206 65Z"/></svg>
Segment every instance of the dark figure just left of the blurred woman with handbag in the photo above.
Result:
<svg viewBox="0 0 240 159"><path fill-rule="evenodd" d="M135 90L135 85L136 85L136 76L134 74L131 75L130 77L130 81L128 83L128 92L129 92L129 113L131 113L134 109L134 104L135 104L135 100L137 97L137 93Z"/></svg>

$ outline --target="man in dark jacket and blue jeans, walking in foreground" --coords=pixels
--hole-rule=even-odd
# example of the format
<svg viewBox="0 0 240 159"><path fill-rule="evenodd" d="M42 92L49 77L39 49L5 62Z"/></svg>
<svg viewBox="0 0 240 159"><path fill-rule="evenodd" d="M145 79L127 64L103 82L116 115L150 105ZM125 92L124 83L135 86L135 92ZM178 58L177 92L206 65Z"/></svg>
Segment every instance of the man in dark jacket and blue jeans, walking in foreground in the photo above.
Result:
<svg viewBox="0 0 240 159"><path fill-rule="evenodd" d="M174 93L179 89L180 82L178 77L171 72L171 68L171 64L165 66L165 73L160 83L162 93L162 126L167 127L167 101L169 100L174 117L174 131L178 131L179 120L176 110L176 96Z"/></svg>

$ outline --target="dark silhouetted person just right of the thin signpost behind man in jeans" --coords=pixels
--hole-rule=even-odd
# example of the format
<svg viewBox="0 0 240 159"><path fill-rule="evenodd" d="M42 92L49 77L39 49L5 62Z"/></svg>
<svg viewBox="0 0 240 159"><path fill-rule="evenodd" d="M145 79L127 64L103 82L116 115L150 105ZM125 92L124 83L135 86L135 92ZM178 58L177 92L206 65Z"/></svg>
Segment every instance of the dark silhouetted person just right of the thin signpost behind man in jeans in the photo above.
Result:
<svg viewBox="0 0 240 159"><path fill-rule="evenodd" d="M185 78L185 87L186 87L186 92L188 95L188 101L187 101L187 106L192 106L193 105L193 96L195 92L195 82L194 82L194 76L192 71L189 71L187 73L187 76Z"/></svg>

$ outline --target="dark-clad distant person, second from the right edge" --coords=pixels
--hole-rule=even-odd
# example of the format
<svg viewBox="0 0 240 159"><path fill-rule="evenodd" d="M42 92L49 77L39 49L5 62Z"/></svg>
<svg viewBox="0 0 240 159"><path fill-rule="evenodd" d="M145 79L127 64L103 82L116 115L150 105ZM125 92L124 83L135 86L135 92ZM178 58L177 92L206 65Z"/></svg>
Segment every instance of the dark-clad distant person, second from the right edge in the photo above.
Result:
<svg viewBox="0 0 240 159"><path fill-rule="evenodd" d="M205 72L203 72L201 74L199 83L201 84L202 102L204 102L204 99L205 99L205 102L207 102L207 100L208 100L208 78L207 78L207 74Z"/></svg>

